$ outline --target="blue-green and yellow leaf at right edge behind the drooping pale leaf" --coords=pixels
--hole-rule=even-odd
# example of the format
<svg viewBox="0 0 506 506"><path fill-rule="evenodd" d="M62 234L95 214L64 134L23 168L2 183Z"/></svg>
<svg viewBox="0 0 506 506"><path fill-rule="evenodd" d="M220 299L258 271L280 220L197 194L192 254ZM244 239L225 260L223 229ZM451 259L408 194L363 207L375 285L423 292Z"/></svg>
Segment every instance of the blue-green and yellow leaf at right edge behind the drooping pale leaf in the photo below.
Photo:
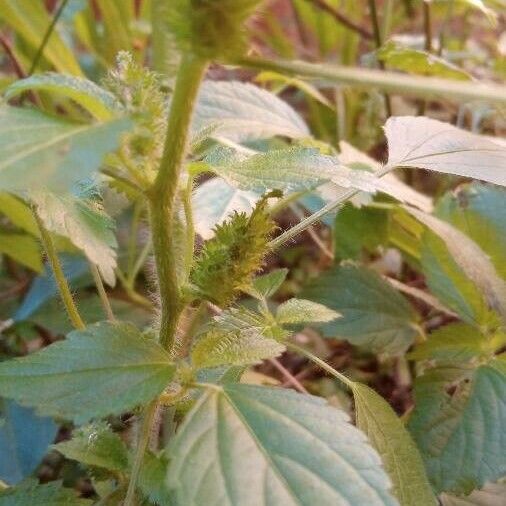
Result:
<svg viewBox="0 0 506 506"><path fill-rule="evenodd" d="M444 195L435 214L478 244L506 279L506 190L478 182L462 185Z"/></svg>

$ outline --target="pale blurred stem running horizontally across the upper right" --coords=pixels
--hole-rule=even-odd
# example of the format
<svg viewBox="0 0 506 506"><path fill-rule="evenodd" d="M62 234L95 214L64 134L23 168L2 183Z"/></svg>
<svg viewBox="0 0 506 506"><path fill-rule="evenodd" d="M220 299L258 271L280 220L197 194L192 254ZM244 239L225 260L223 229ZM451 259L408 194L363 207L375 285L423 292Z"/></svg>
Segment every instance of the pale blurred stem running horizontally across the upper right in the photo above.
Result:
<svg viewBox="0 0 506 506"><path fill-rule="evenodd" d="M303 61L267 60L243 57L233 62L244 67L272 70L289 76L318 79L354 87L375 87L390 93L418 97L445 97L452 101L485 100L506 105L506 88L492 83L469 83L436 77L410 76L397 72L307 63Z"/></svg>

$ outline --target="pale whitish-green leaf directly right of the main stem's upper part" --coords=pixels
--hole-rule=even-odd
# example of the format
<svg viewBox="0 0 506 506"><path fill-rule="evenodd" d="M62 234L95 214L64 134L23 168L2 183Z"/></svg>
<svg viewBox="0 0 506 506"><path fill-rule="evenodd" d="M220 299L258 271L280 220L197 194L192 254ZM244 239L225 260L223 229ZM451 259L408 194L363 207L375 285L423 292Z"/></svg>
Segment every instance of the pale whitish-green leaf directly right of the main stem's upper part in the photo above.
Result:
<svg viewBox="0 0 506 506"><path fill-rule="evenodd" d="M200 90L193 131L217 125L215 135L236 142L308 137L302 118L276 95L238 81L205 81Z"/></svg>

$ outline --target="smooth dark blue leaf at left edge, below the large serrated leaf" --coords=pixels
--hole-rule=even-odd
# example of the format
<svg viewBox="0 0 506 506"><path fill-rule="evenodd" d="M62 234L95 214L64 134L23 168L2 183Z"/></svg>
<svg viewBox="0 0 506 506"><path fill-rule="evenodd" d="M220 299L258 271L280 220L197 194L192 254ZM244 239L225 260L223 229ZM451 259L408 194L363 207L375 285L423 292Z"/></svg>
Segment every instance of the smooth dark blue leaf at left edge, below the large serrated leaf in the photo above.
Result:
<svg viewBox="0 0 506 506"><path fill-rule="evenodd" d="M0 401L0 408L0 480L16 485L39 465L58 427L12 401Z"/></svg>

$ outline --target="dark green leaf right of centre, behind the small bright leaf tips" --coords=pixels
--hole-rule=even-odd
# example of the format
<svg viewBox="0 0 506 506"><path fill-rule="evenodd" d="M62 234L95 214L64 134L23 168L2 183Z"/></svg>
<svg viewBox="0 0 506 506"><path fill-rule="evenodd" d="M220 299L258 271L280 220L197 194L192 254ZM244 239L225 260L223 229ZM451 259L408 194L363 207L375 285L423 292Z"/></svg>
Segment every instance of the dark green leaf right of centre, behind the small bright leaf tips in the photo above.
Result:
<svg viewBox="0 0 506 506"><path fill-rule="evenodd" d="M418 333L407 300L363 267L334 267L312 280L300 296L342 315L321 326L326 337L346 339L375 353L402 353Z"/></svg>

